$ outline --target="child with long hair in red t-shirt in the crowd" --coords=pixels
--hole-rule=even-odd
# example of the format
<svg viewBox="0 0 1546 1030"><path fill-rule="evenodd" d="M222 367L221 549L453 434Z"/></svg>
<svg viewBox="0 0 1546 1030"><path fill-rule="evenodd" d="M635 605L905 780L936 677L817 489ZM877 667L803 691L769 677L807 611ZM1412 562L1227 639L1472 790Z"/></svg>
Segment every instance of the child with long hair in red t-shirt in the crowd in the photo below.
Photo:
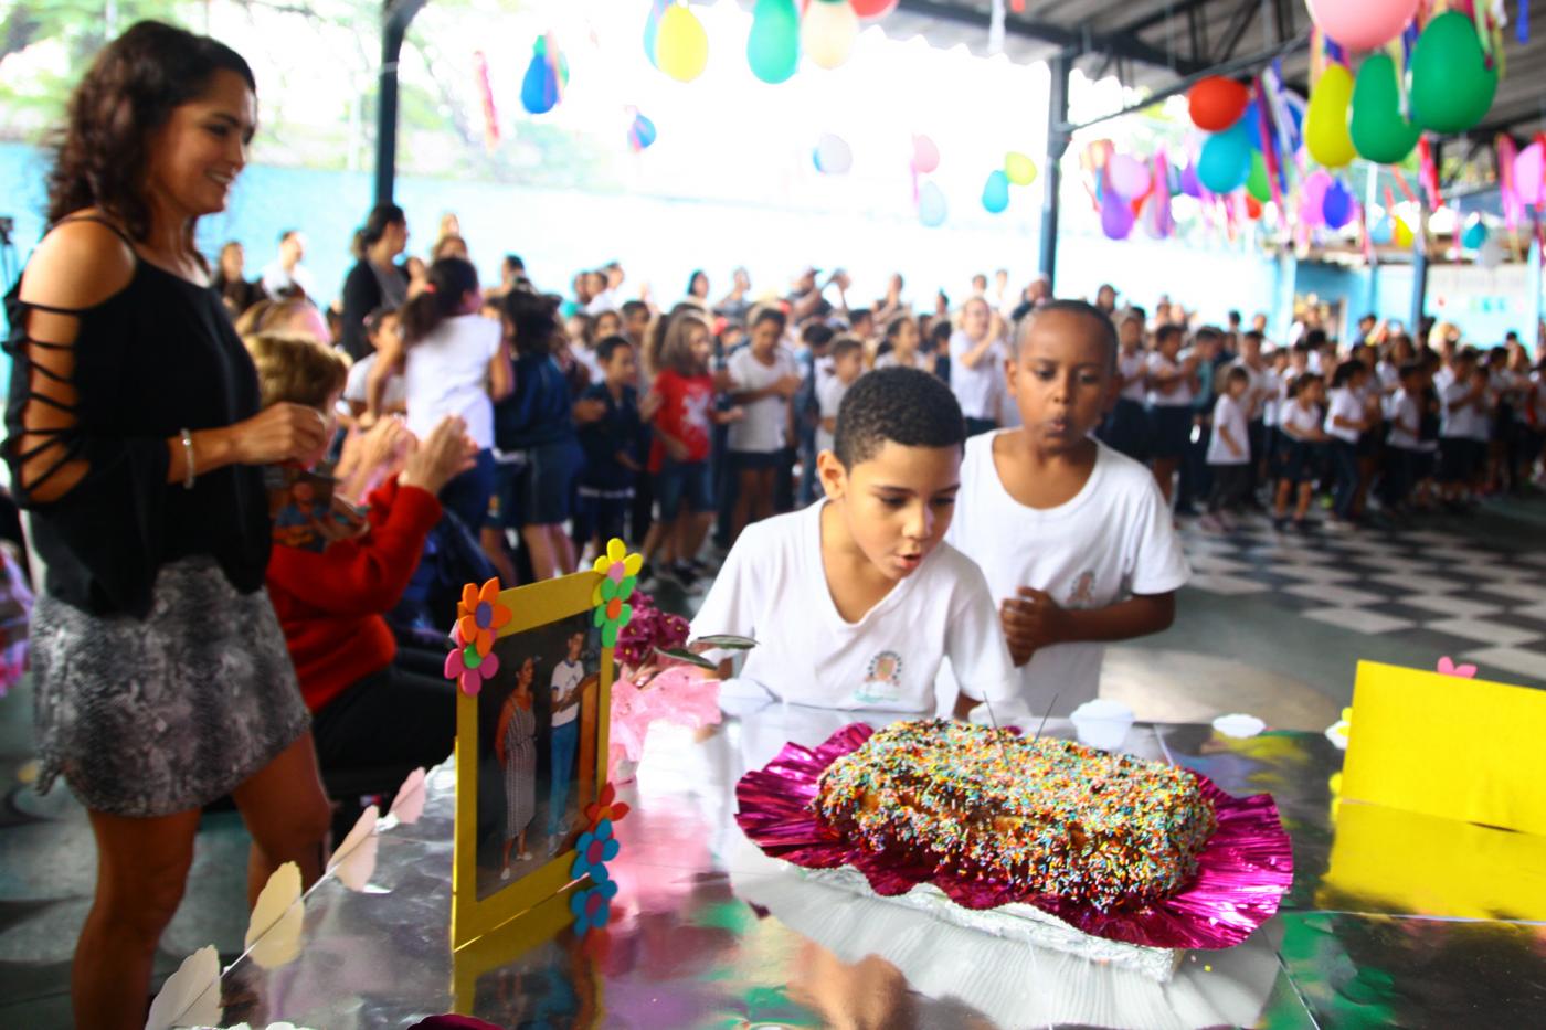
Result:
<svg viewBox="0 0 1546 1030"><path fill-rule="evenodd" d="M654 442L649 472L656 478L656 521L645 537L645 568L663 549L669 569L691 588L688 561L697 555L714 520L714 489L708 464L711 424L734 422L741 408L714 410L719 393L708 362L714 342L708 323L696 314L679 314L666 328L660 346L660 373L645 399L654 408ZM649 578L646 571L643 578Z"/></svg>

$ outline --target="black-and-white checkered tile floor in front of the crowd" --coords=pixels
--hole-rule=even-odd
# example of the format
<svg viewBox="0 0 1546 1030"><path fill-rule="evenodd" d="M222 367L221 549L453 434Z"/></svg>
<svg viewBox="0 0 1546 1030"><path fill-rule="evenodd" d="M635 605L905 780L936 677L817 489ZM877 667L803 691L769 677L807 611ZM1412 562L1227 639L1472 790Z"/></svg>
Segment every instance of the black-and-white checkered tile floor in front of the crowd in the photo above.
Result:
<svg viewBox="0 0 1546 1030"><path fill-rule="evenodd" d="M1546 680L1546 551L1413 530L1277 532L1240 517L1229 534L1181 529L1192 589L1262 595L1305 619L1408 637L1455 660Z"/></svg>

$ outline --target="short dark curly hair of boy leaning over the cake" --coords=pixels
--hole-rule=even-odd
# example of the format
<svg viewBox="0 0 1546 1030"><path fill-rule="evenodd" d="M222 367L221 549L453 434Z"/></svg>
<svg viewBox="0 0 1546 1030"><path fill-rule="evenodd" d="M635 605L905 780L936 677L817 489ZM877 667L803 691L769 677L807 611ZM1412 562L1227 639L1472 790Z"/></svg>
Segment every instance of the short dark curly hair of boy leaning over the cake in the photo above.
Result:
<svg viewBox="0 0 1546 1030"><path fill-rule="evenodd" d="M917 368L880 368L853 380L838 408L832 450L844 469L869 461L890 441L903 447L962 447L966 421L955 394Z"/></svg>

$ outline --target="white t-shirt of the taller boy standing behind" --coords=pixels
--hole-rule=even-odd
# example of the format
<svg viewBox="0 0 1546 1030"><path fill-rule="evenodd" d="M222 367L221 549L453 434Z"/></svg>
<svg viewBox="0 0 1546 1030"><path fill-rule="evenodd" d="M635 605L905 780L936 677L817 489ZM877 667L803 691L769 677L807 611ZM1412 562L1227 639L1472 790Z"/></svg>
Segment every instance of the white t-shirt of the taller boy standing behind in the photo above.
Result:
<svg viewBox="0 0 1546 1030"><path fill-rule="evenodd" d="M988 577L994 603L1022 586L1064 608L1105 608L1132 594L1167 594L1192 575L1153 473L1104 444L1084 487L1051 509L1010 496L983 433L966 441L955 521L946 540ZM1019 670L1019 701L1033 715L1067 716L1101 687L1104 643L1056 643ZM1053 696L1057 702L1053 705Z"/></svg>

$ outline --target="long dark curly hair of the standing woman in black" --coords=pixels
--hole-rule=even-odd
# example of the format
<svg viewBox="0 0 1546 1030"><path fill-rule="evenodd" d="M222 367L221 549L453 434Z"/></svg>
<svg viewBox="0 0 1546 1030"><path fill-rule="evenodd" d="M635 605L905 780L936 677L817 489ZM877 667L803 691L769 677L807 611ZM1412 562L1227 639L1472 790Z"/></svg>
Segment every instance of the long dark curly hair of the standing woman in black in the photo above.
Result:
<svg viewBox="0 0 1546 1030"><path fill-rule="evenodd" d="M173 108L203 96L216 71L233 71L257 91L241 54L161 22L138 22L102 48L70 97L48 173L49 224L100 207L144 240L150 234L144 195L150 135Z"/></svg>

